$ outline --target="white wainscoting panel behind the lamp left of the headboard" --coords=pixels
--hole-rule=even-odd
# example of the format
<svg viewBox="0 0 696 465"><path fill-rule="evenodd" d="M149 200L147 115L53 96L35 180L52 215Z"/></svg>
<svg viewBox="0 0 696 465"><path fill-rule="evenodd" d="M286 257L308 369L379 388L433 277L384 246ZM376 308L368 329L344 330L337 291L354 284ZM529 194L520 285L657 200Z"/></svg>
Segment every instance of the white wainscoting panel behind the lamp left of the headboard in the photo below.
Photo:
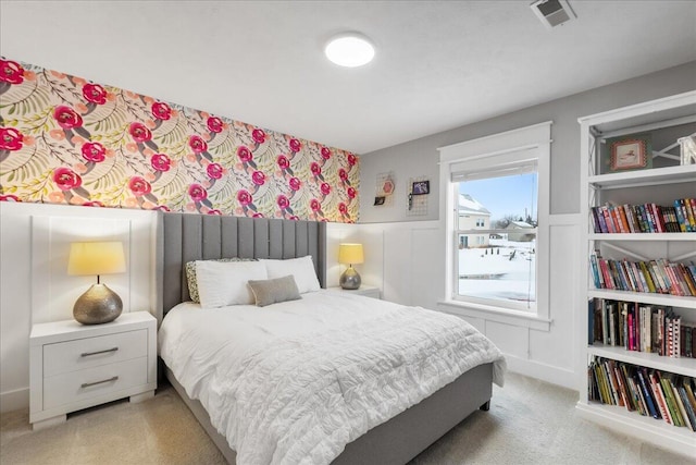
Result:
<svg viewBox="0 0 696 465"><path fill-rule="evenodd" d="M70 243L122 241L126 272L101 281L123 311L154 309L152 211L0 203L0 411L28 405L28 340L33 323L71 319L96 277L67 276Z"/></svg>

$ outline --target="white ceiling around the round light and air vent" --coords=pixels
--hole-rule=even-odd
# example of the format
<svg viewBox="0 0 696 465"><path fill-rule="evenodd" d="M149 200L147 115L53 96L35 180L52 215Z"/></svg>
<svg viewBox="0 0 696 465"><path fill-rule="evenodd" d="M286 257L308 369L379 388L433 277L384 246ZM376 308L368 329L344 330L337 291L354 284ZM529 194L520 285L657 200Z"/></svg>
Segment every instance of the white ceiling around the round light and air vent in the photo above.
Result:
<svg viewBox="0 0 696 465"><path fill-rule="evenodd" d="M1 0L0 54L358 154L696 60L696 1L530 3Z"/></svg>

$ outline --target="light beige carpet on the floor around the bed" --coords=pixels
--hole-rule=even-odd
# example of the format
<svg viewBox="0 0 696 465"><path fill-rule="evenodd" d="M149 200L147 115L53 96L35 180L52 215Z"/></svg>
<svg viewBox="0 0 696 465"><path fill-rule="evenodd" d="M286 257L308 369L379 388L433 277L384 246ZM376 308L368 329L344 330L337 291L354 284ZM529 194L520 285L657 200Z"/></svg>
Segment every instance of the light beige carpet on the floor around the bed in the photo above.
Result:
<svg viewBox="0 0 696 465"><path fill-rule="evenodd" d="M494 386L489 412L476 412L411 465L456 464L696 464L579 418L577 393L508 374ZM657 420L656 420L657 421ZM694 436L696 441L696 433ZM224 464L169 384L139 404L115 402L69 415L33 431L28 412L0 418L0 464Z"/></svg>

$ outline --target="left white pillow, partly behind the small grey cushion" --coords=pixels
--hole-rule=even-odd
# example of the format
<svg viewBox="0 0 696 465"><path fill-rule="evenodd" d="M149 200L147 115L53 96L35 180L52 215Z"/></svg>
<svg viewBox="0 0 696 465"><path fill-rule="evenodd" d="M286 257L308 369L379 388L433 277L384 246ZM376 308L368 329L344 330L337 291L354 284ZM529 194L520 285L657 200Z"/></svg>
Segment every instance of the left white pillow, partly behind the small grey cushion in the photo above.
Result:
<svg viewBox="0 0 696 465"><path fill-rule="evenodd" d="M196 260L196 282L203 308L253 304L253 293L247 285L250 279L269 279L262 262Z"/></svg>

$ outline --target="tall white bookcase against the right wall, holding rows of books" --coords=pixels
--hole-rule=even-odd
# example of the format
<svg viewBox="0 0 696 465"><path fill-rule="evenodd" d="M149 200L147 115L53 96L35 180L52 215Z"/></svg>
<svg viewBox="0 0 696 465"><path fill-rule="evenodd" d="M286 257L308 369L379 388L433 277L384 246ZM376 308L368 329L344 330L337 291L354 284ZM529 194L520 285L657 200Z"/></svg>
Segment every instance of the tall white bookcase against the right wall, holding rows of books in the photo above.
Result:
<svg viewBox="0 0 696 465"><path fill-rule="evenodd" d="M579 318L580 350L580 400L577 413L584 418L599 423L620 432L670 449L674 452L696 456L696 431L687 426L676 427L663 419L643 416L637 411L630 412L620 405L608 405L591 395L593 377L589 376L591 362L613 360L627 364L646 372L658 371L679 377L696 378L696 358L670 357L658 353L626 350L621 344L588 343L588 303L594 299L634 303L641 306L669 307L684 323L696 322L696 296L686 290L682 295L670 293L634 292L620 289L605 289L604 280L597 289L597 271L593 268L593 255L609 260L649 262L664 259L670 264L688 266L696 264L696 229L687 232L664 232L658 228L651 232L639 232L637 222L641 213L649 218L650 204L671 207L674 200L696 197L696 164L682 164L679 138L696 135L696 90L624 107L579 120L581 125L581 217L582 249L586 250L586 273L582 273L581 295L583 302ZM626 147L643 147L646 158L630 168L617 161ZM617 232L600 232L597 207L621 208L631 218L623 224L630 228ZM643 210L645 206L645 210ZM594 211L593 211L594 210ZM661 215L666 209L655 210ZM688 211L686 210L688 213ZM645 217L644 217L645 218ZM646 218L646 219L648 219ZM660 217L661 218L661 217ZM655 218L654 218L655 219ZM617 220L621 217L617 215ZM659 221L659 219L658 219ZM658 232L658 229L662 232ZM601 272L601 271L599 271ZM626 276L631 273L625 269ZM630 277L629 277L630 278ZM638 280L637 273L634 276ZM679 277L676 279L683 279ZM630 284L630 280L629 281ZM621 316L619 316L621 318ZM625 317L624 317L625 318ZM624 334L627 334L624 333ZM593 338L594 339L594 338ZM601 371L601 370L600 370ZM609 391L610 392L610 391ZM626 391L627 392L627 391ZM592 397L592 399L591 399Z"/></svg>

